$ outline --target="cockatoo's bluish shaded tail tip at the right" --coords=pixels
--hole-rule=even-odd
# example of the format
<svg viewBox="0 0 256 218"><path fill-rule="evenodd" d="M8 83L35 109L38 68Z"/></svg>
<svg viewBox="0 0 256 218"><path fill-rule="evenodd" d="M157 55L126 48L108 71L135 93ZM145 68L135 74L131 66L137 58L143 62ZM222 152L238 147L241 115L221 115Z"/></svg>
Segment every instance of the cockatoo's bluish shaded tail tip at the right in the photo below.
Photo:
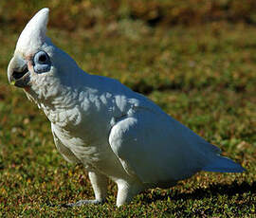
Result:
<svg viewBox="0 0 256 218"><path fill-rule="evenodd" d="M219 154L215 155L214 159L210 161L210 164L202 170L219 173L242 173L245 171L240 164L237 164L228 157L221 156Z"/></svg>

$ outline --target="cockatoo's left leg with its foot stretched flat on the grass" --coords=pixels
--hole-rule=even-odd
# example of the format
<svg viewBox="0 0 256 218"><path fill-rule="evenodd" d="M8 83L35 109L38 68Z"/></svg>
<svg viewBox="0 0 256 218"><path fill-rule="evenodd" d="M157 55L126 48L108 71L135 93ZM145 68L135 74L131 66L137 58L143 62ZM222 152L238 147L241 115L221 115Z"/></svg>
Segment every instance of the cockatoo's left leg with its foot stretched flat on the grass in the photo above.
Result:
<svg viewBox="0 0 256 218"><path fill-rule="evenodd" d="M106 200L107 177L101 173L89 172L89 178L95 194L94 200L80 200L76 203L65 204L64 207L76 207L87 204L101 204Z"/></svg>

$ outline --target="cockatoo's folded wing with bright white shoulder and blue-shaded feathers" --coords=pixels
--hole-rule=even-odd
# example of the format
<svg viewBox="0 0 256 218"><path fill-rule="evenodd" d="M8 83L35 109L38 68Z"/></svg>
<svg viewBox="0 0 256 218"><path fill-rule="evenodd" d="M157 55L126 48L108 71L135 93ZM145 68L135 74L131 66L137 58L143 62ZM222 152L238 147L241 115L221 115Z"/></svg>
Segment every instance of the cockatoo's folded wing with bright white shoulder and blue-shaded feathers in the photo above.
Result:
<svg viewBox="0 0 256 218"><path fill-rule="evenodd" d="M127 173L156 184L190 177L220 152L167 114L142 107L113 126L109 143Z"/></svg>

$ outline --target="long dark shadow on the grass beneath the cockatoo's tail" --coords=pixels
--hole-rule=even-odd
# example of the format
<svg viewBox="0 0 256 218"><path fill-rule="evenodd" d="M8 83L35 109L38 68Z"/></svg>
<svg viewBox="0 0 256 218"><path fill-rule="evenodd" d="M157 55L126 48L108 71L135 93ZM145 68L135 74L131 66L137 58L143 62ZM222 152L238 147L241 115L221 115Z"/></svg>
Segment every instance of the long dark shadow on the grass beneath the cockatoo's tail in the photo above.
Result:
<svg viewBox="0 0 256 218"><path fill-rule="evenodd" d="M214 185L210 185L209 188L207 189L203 189L203 188L199 188L196 189L192 192L179 192L179 191L174 191L171 196L166 194L166 195L161 195L161 194L154 194L153 198L149 198L147 196L145 196L144 200L145 202L148 203L152 203L155 202L157 200L167 200L168 197L171 198L171 200L200 200L203 199L205 197L210 198L210 197L214 197L217 195L228 195L228 196L233 196L235 194L243 194L243 193L247 193L250 192L252 193L256 193L256 181L254 181L251 184L248 184L247 182L243 182L238 184L237 182L233 182L230 185L222 185L222 184L214 184Z"/></svg>

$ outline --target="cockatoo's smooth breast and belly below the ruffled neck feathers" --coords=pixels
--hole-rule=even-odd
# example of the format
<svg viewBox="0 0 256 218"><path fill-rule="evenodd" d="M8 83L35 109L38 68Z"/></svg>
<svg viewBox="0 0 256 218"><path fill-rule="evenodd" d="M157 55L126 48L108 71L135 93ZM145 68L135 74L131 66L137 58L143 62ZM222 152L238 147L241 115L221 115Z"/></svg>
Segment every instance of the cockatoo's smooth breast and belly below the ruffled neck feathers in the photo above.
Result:
<svg viewBox="0 0 256 218"><path fill-rule="evenodd" d="M86 136L86 134L78 136L77 133L66 131L54 124L52 131L61 141L62 146L74 154L87 171L98 171L112 179L127 176L119 159L108 145L107 138L100 140L97 139L98 137Z"/></svg>

